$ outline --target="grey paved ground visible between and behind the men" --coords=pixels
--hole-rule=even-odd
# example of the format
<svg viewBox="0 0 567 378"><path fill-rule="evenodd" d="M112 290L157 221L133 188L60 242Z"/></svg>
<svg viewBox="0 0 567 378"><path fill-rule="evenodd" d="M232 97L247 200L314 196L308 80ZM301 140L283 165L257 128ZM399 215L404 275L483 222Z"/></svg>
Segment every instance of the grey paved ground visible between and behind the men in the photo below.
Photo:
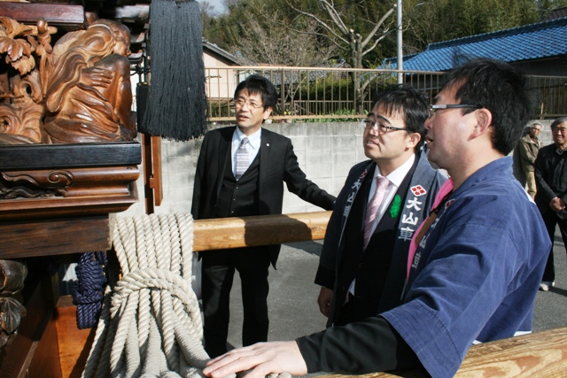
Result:
<svg viewBox="0 0 567 378"><path fill-rule="evenodd" d="M268 340L293 340L325 328L326 318L319 312L313 283L322 242L284 244L277 270L270 269L268 297L270 331ZM561 236L555 235L555 288L539 291L534 314L534 331L567 327L567 258ZM240 282L235 274L232 289L229 343L242 344L242 305Z"/></svg>

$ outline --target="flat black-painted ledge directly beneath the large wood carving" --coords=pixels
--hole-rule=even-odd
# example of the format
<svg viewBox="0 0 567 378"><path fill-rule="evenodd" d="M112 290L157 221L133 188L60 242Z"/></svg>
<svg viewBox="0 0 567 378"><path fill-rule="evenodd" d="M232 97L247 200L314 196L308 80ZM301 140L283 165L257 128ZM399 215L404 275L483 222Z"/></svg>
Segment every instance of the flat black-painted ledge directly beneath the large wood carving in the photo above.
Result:
<svg viewBox="0 0 567 378"><path fill-rule="evenodd" d="M2 3L0 4L8 4ZM19 144L0 146L0 172L92 166L137 166L142 150L137 142L80 144Z"/></svg>

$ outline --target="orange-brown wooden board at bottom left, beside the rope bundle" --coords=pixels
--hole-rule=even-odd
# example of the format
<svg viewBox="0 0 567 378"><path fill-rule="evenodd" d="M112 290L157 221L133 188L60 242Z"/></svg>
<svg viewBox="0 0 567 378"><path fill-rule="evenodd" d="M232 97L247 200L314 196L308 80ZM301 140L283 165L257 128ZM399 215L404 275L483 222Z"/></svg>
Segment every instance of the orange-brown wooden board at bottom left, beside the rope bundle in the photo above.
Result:
<svg viewBox="0 0 567 378"><path fill-rule="evenodd" d="M63 302L72 300L69 299L70 296L66 297L61 297L61 300ZM61 374L68 378L79 378L87 363L96 328L77 328L77 308L75 306L58 307L56 314Z"/></svg>

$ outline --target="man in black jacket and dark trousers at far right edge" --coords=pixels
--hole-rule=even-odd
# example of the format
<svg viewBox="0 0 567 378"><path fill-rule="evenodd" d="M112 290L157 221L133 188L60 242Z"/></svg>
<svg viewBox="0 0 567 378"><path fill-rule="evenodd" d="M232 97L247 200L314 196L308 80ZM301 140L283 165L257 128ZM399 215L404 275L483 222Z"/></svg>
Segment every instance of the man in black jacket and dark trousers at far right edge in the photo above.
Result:
<svg viewBox="0 0 567 378"><path fill-rule="evenodd" d="M551 124L553 144L542 147L535 160L535 180L538 192L535 203L541 212L551 239L548 264L541 279L540 289L548 291L555 286L555 266L553 242L555 225L559 225L563 243L567 245L567 117L555 120Z"/></svg>

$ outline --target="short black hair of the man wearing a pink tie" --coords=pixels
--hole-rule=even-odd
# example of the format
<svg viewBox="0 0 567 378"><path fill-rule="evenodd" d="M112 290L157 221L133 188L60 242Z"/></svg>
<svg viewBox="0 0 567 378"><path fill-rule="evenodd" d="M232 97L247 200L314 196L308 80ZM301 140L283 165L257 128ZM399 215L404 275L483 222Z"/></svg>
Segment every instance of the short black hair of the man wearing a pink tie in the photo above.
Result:
<svg viewBox="0 0 567 378"><path fill-rule="evenodd" d="M384 106L388 115L399 112L403 116L408 133L419 133L421 140L416 145L419 150L425 141L425 120L429 117L429 103L419 90L402 85L391 85L374 95L372 108Z"/></svg>

